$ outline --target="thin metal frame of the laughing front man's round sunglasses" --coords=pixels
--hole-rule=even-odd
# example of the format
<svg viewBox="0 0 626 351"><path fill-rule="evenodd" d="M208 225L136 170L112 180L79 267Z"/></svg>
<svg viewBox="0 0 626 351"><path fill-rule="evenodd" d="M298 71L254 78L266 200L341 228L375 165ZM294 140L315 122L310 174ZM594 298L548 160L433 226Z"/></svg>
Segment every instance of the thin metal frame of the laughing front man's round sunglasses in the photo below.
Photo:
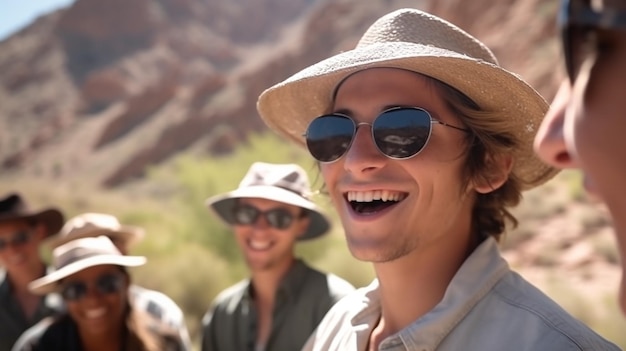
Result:
<svg viewBox="0 0 626 351"><path fill-rule="evenodd" d="M391 156L391 155L388 155L385 152L383 152L380 149L380 146L376 143L376 138L374 136L374 133L375 133L375 131L374 131L374 123L376 122L376 120L380 116L382 116L385 113L389 113L389 112L393 112L393 111L402 111L402 110L415 110L415 111L424 112L428 116L428 118L430 119L430 125L429 125L429 129L428 129L428 136L426 137L426 141L424 142L424 145L422 145L422 147L417 152L415 152L414 154L411 154L409 156L406 156L406 157L395 157L395 156ZM361 127L361 126L364 126L364 125L370 126L370 135L372 137L372 140L374 141L374 145L376 145L376 149L378 149L378 151L381 154L385 155L385 157L390 158L392 160L408 160L408 159L410 159L412 157L415 157L415 156L419 155L426 148L426 146L428 145L428 141L430 140L430 136L432 134L432 125L433 124L440 124L442 126L453 128L453 129L456 129L456 130L460 130L460 131L465 132L465 133L470 133L471 132L467 128L457 127L455 125L452 125L452 124L449 124L449 123L445 123L445 122L442 122L442 121L440 121L438 119L435 119L430 114L430 112L428 112L426 109L421 108L421 107L406 107L406 106L392 107L392 108L389 108L389 109L386 109L386 110L380 112L378 114L378 116L376 116L376 118L374 118L374 121L372 123L367 123L367 122L359 122L359 123L357 123L354 119L352 119L352 117L350 117L348 115L344 115L344 114L341 114L341 113L331 113L331 114L321 115L321 116L318 116L318 117L312 119L311 122L309 123L309 126L315 120L317 120L319 118L323 118L323 117L341 117L341 118L346 118L346 119L349 119L350 121L352 121L352 124L353 124L354 127L353 127L353 130L352 130L352 137L350 138L350 144L348 145L348 147L343 151L343 153L339 157L337 157L337 158L335 158L333 160L322 161L322 160L318 159L317 157L315 157L313 155L313 153L311 153L311 151L309 149L309 153L313 156L313 158L315 158L317 161L319 161L321 163L333 163L333 162L336 162L336 161L340 160L350 150L350 148L352 147L352 143L354 142L354 137L356 135L356 132L357 132L358 128ZM305 138L308 138L308 129L309 129L309 127L307 127L307 131L304 134L302 134L302 136L305 137ZM308 148L309 147L308 146L308 139L306 140L306 142L307 142L307 148Z"/></svg>

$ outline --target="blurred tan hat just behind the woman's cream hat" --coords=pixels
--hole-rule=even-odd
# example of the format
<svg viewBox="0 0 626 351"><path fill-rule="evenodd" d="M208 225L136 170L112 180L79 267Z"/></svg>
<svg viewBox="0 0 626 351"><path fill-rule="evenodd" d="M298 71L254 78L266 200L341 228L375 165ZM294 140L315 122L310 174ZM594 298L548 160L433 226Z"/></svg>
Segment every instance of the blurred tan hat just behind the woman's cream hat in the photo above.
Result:
<svg viewBox="0 0 626 351"><path fill-rule="evenodd" d="M121 224L115 216L109 214L83 213L69 219L58 234L46 238L44 245L55 248L74 239L100 235L119 238L130 247L143 239L145 231L140 227Z"/></svg>

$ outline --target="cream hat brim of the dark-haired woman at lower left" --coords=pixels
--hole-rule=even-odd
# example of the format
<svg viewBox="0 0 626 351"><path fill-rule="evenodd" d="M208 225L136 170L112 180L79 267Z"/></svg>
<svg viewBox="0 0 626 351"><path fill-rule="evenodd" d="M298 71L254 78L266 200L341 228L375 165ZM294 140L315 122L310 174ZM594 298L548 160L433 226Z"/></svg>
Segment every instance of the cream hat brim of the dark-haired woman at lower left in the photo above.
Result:
<svg viewBox="0 0 626 351"><path fill-rule="evenodd" d="M37 295L45 295L57 289L58 282L74 273L94 266L115 265L123 267L136 267L146 263L143 256L121 256L121 255L98 255L82 259L64 266L42 278L33 280L28 285L31 292Z"/></svg>

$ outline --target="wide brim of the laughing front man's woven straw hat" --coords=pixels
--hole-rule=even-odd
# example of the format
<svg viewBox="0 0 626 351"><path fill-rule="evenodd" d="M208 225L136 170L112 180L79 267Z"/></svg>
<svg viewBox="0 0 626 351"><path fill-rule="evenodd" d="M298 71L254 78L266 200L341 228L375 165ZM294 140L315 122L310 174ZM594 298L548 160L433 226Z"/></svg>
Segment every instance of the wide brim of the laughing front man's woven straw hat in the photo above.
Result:
<svg viewBox="0 0 626 351"><path fill-rule="evenodd" d="M304 146L309 122L329 113L332 94L350 74L374 67L400 68L438 79L463 92L483 110L511 123L519 145L513 151L512 173L523 190L543 184L558 170L533 151L535 134L548 104L518 75L495 64L457 52L406 42L387 42L356 48L310 66L265 90L257 109L265 123Z"/></svg>

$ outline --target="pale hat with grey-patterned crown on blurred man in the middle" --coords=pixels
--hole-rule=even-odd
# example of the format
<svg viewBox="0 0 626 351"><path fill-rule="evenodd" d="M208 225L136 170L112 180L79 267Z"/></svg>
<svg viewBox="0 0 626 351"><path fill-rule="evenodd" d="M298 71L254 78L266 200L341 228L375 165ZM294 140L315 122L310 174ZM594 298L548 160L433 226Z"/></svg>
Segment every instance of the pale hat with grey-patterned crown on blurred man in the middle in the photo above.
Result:
<svg viewBox="0 0 626 351"><path fill-rule="evenodd" d="M206 200L206 205L229 225L234 223L233 210L237 199L260 198L278 201L309 210L309 226L298 240L325 234L330 222L322 210L310 200L309 177L297 164L255 162L239 183L239 187Z"/></svg>

